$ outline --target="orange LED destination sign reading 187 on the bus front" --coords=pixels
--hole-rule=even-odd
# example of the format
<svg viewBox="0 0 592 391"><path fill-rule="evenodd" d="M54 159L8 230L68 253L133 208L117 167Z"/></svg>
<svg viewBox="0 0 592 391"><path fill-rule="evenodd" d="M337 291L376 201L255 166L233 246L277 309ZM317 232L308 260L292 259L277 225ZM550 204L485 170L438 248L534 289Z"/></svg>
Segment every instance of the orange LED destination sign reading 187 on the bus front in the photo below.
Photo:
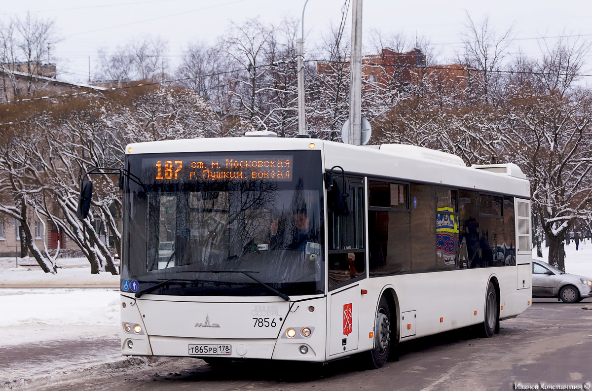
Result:
<svg viewBox="0 0 592 391"><path fill-rule="evenodd" d="M207 154L203 156L165 155L144 159L144 172L155 183L276 180L291 181L294 157L254 154Z"/></svg>

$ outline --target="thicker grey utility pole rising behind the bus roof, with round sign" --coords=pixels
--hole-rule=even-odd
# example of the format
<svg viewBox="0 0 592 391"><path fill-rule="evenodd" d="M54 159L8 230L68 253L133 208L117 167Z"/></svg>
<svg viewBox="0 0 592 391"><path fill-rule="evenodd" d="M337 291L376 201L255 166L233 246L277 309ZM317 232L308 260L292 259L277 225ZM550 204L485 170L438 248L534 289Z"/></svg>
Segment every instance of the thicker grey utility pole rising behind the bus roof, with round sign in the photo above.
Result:
<svg viewBox="0 0 592 391"><path fill-rule="evenodd" d="M352 56L349 83L349 144L359 146L362 135L362 0L353 0Z"/></svg>

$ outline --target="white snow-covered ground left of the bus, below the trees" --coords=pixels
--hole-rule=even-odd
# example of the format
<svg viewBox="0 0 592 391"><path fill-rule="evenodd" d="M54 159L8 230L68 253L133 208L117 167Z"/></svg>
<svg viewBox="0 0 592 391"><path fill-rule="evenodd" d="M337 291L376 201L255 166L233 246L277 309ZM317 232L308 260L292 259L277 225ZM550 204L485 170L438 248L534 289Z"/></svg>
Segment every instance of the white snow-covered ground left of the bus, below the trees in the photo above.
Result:
<svg viewBox="0 0 592 391"><path fill-rule="evenodd" d="M18 264L0 258L0 347L72 338L96 327L117 335L120 276L91 274L85 258L60 258L57 274L44 273L34 258Z"/></svg>

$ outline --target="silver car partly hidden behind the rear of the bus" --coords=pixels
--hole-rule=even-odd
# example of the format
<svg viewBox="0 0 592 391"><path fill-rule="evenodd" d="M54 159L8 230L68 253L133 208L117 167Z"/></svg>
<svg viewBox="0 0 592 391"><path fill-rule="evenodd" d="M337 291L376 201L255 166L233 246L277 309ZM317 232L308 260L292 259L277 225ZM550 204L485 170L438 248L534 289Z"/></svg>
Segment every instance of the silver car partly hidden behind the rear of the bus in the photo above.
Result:
<svg viewBox="0 0 592 391"><path fill-rule="evenodd" d="M562 272L541 260L532 260L532 297L559 298L577 303L592 297L592 279Z"/></svg>

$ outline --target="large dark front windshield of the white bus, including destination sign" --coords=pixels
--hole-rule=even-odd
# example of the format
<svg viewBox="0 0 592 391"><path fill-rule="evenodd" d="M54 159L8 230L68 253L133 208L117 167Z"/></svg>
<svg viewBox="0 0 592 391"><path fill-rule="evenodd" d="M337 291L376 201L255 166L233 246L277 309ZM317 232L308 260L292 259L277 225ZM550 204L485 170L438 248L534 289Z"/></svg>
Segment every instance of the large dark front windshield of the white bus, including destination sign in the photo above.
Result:
<svg viewBox="0 0 592 391"><path fill-rule="evenodd" d="M141 185L126 180L121 272L139 291L324 293L320 151L130 155L126 167Z"/></svg>

